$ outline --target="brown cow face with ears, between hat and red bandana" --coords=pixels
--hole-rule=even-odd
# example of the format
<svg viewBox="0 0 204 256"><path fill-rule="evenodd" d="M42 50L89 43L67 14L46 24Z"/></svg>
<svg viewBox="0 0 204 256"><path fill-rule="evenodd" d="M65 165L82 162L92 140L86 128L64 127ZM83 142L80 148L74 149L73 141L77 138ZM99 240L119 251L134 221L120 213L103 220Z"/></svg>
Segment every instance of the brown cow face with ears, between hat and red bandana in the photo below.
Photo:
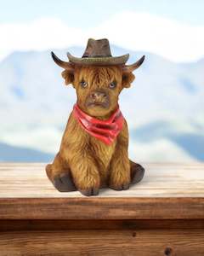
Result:
<svg viewBox="0 0 204 256"><path fill-rule="evenodd" d="M117 108L118 96L133 82L132 72L123 73L120 66L75 67L62 73L65 84L77 90L77 104L82 111L95 117L105 117Z"/></svg>

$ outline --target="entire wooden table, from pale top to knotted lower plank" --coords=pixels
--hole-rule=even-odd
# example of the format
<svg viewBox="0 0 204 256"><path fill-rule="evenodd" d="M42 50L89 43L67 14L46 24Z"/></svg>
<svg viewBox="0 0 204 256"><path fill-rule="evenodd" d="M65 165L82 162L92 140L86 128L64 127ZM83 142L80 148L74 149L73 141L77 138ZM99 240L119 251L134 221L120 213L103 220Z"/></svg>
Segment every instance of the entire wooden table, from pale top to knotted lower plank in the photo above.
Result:
<svg viewBox="0 0 204 256"><path fill-rule="evenodd" d="M204 255L204 164L148 164L126 191L59 193L44 164L0 164L1 255Z"/></svg>

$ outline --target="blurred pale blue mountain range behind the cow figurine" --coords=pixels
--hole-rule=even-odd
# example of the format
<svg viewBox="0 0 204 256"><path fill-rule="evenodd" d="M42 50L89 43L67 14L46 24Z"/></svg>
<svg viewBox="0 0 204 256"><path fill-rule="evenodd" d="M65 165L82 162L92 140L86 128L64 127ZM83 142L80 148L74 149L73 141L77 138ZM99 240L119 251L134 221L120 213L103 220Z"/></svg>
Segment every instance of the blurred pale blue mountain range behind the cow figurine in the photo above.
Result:
<svg viewBox="0 0 204 256"><path fill-rule="evenodd" d="M204 59L174 63L148 52L112 45L112 55L145 55L120 106L130 131L129 154L138 161L204 160ZM53 49L66 60L68 49ZM69 49L81 56L81 47ZM0 62L0 160L49 161L76 102L50 51L14 52Z"/></svg>

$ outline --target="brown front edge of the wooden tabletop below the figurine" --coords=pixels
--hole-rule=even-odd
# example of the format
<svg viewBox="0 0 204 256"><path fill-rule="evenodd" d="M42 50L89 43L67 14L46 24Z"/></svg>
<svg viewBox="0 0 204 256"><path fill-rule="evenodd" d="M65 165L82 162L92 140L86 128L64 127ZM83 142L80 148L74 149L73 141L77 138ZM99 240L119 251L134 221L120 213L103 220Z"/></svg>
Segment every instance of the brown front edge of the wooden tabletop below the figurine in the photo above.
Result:
<svg viewBox="0 0 204 256"><path fill-rule="evenodd" d="M204 197L0 198L0 219L204 219Z"/></svg>

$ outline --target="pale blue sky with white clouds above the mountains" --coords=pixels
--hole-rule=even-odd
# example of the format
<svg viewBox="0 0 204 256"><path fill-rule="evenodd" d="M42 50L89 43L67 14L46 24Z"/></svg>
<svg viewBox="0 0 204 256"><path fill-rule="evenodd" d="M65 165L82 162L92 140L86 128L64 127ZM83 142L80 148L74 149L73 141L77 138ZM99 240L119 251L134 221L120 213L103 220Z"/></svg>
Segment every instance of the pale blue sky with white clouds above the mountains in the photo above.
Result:
<svg viewBox="0 0 204 256"><path fill-rule="evenodd" d="M176 62L204 57L202 0L0 0L0 6L0 61L16 50L85 47L88 38Z"/></svg>

